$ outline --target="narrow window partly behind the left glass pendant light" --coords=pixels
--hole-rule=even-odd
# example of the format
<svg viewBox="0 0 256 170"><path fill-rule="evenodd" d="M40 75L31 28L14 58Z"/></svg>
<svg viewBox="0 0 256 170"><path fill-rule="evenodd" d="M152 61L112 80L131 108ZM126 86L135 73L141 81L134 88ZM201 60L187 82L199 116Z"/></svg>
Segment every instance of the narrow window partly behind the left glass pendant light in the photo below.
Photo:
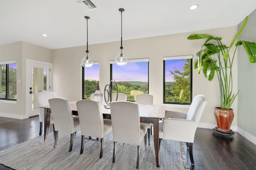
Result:
<svg viewBox="0 0 256 170"><path fill-rule="evenodd" d="M97 89L100 81L100 65L93 62L91 67L82 66L82 98L89 99L90 95Z"/></svg>

